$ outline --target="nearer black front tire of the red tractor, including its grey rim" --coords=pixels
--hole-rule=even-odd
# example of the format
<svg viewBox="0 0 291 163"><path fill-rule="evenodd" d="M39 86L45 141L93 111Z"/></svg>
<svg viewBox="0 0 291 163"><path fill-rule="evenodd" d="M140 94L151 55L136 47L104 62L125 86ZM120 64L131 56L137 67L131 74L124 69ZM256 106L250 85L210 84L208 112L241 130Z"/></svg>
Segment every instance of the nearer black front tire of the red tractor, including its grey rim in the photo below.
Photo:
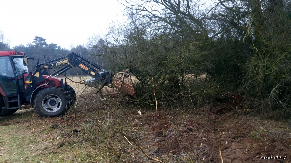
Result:
<svg viewBox="0 0 291 163"><path fill-rule="evenodd" d="M35 111L42 117L62 116L69 107L69 95L60 87L45 87L34 98Z"/></svg>

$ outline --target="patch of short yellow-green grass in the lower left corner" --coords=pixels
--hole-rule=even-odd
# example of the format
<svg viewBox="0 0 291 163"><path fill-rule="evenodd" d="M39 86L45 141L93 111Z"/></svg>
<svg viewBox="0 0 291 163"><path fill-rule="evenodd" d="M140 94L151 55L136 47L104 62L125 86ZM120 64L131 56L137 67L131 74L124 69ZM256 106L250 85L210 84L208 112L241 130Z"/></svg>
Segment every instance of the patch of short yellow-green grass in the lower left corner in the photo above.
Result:
<svg viewBox="0 0 291 163"><path fill-rule="evenodd" d="M1 156L3 162L75 162L96 160L94 150L84 144L91 144L86 129L81 133L68 132L68 128L57 129L47 124L51 119L33 118L31 125L9 124L0 131ZM13 120L11 120L13 121ZM6 120L7 123L7 120ZM71 127L76 125L70 125ZM1 126L3 128L3 126ZM69 130L70 131L70 130ZM93 134L93 133L90 133ZM3 148L3 149L2 149ZM97 159L98 160L98 159Z"/></svg>

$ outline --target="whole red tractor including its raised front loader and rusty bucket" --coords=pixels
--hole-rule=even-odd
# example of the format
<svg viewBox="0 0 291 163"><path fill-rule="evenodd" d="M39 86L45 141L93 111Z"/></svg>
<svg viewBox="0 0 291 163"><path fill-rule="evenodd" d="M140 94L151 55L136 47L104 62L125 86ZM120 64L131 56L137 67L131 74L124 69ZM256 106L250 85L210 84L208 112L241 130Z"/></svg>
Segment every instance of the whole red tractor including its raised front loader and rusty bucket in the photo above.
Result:
<svg viewBox="0 0 291 163"><path fill-rule="evenodd" d="M135 91L128 71L112 73L92 63L77 53L56 58L33 67L29 72L28 58L24 52L0 51L0 116L17 111L22 104L31 105L43 117L61 116L76 100L76 92L63 79L56 76L72 67L95 78L103 85L112 84L114 88L134 97ZM53 69L50 74L49 70Z"/></svg>

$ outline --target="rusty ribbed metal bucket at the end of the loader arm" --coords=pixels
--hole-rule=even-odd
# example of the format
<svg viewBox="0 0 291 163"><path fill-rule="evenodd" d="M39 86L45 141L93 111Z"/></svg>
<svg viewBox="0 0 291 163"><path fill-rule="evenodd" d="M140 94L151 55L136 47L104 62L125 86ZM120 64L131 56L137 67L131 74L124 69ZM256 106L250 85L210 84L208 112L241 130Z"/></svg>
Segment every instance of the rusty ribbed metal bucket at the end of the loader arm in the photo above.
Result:
<svg viewBox="0 0 291 163"><path fill-rule="evenodd" d="M115 74L112 79L112 85L119 91L123 91L136 98L134 86L128 70Z"/></svg>

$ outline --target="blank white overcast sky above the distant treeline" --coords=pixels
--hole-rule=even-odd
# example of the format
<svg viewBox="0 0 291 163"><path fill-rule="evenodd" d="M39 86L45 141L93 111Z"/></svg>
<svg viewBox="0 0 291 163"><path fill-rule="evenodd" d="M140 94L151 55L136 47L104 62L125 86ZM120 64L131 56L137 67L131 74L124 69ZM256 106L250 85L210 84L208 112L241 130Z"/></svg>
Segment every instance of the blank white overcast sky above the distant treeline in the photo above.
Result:
<svg viewBox="0 0 291 163"><path fill-rule="evenodd" d="M93 34L123 21L125 7L116 0L1 1L0 31L10 47L32 43L35 36L70 49L86 45Z"/></svg>

